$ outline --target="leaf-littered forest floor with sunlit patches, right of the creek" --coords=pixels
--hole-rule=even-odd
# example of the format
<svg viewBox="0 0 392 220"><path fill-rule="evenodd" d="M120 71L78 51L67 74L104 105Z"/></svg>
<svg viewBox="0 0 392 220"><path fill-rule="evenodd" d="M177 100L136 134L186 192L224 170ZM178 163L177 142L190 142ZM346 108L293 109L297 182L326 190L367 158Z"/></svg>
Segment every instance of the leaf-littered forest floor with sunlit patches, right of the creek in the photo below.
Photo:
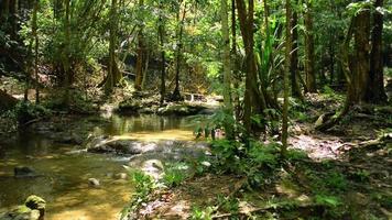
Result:
<svg viewBox="0 0 392 220"><path fill-rule="evenodd" d="M290 143L308 157L288 163L271 183L247 190L238 176L193 177L156 195L140 216L188 219L214 212L213 219L392 219L392 108L357 108L328 132L315 131L311 122L338 109L340 99L307 97L301 107L305 116L292 122Z"/></svg>

